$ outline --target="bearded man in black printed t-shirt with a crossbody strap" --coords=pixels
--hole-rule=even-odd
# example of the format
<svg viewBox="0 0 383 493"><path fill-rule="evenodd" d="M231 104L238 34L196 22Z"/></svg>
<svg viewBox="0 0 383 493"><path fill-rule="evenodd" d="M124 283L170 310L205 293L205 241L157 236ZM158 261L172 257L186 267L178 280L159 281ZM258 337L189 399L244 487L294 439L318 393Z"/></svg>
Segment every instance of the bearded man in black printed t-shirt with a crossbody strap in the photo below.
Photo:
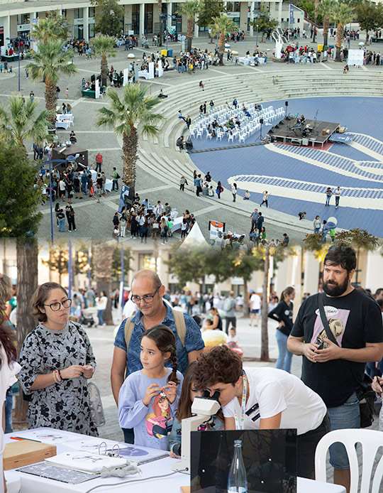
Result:
<svg viewBox="0 0 383 493"><path fill-rule="evenodd" d="M366 362L383 356L383 326L379 305L351 286L355 250L344 244L331 247L324 259L323 293L309 296L299 308L287 349L302 358L302 380L321 396L330 413L331 430L360 428L356 390ZM326 337L318 298L337 344ZM323 341L323 349L319 342ZM330 448L334 482L350 491L350 465L344 445Z"/></svg>

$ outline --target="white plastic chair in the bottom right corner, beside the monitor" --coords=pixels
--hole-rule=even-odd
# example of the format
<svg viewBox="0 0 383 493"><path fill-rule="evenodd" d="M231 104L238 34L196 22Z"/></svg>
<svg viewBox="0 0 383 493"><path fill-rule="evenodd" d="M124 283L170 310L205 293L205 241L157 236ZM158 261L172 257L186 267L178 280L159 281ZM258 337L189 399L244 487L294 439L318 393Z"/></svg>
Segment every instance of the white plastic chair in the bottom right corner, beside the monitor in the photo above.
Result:
<svg viewBox="0 0 383 493"><path fill-rule="evenodd" d="M334 430L324 435L316 446L315 452L315 478L317 481L326 482L326 454L333 443L340 442L345 445L350 462L350 493L358 492L359 466L355 445L362 445L362 479L360 493L370 491L371 473L374 460L379 447L383 447L383 435L380 431L365 429ZM371 493L379 493L380 483L383 477L383 456L380 458L372 481Z"/></svg>

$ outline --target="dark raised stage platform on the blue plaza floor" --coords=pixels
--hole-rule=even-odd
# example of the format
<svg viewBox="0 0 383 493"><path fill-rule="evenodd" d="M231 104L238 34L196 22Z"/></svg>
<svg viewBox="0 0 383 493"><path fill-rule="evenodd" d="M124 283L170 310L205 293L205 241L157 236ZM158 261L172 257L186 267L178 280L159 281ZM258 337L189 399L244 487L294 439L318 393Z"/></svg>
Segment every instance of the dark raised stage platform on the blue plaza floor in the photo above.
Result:
<svg viewBox="0 0 383 493"><path fill-rule="evenodd" d="M317 121L306 119L304 126L301 128L292 128L296 126L296 118L287 117L272 126L267 132L266 139L269 142L290 143L293 146L315 146L327 143L328 139L339 129L340 124L331 123L330 121ZM311 127L311 131L304 132L306 126Z"/></svg>

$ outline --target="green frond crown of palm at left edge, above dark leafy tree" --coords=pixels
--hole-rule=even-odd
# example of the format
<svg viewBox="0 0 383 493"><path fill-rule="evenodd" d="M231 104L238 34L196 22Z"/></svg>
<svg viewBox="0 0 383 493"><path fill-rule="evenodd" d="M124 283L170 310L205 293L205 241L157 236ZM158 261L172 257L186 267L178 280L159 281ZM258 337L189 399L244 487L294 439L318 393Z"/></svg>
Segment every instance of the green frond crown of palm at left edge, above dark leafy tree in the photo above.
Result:
<svg viewBox="0 0 383 493"><path fill-rule="evenodd" d="M40 114L36 111L37 99L28 98L24 102L22 96L9 97L9 112L0 106L0 130L19 146L25 141L42 142L48 134L48 123L52 112L44 109ZM53 114L54 115L54 114Z"/></svg>

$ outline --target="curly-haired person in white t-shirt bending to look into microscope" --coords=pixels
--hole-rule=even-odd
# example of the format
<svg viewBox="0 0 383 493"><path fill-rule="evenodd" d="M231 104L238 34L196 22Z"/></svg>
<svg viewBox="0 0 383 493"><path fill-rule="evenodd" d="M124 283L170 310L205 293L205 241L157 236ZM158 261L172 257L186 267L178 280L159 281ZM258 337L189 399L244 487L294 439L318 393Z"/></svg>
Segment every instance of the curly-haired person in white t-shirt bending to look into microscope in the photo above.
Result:
<svg viewBox="0 0 383 493"><path fill-rule="evenodd" d="M330 418L303 381L276 368L243 368L238 354L222 345L200 355L195 386L220 393L226 430L296 428L297 475L313 478L316 445L330 431Z"/></svg>

